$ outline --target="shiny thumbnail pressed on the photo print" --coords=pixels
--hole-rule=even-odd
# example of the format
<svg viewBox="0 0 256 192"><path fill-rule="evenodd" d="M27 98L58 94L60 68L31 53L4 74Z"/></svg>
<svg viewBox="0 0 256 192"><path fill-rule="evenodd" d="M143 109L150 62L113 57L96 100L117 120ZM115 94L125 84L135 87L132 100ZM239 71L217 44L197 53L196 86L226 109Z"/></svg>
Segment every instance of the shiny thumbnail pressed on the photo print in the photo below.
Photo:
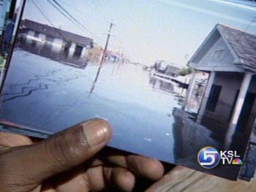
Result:
<svg viewBox="0 0 256 192"><path fill-rule="evenodd" d="M110 127L105 120L90 120L83 125L83 133L91 147L107 142Z"/></svg>

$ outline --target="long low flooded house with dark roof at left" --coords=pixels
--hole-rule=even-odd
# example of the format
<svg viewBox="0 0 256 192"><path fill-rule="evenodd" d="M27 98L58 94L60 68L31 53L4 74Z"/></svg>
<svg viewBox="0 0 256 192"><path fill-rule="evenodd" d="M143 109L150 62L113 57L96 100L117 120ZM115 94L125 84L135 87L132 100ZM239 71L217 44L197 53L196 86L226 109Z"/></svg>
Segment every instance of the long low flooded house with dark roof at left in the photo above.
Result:
<svg viewBox="0 0 256 192"><path fill-rule="evenodd" d="M75 55L85 55L93 43L93 39L54 28L33 20L22 20L21 35L27 39L59 48L69 50Z"/></svg>

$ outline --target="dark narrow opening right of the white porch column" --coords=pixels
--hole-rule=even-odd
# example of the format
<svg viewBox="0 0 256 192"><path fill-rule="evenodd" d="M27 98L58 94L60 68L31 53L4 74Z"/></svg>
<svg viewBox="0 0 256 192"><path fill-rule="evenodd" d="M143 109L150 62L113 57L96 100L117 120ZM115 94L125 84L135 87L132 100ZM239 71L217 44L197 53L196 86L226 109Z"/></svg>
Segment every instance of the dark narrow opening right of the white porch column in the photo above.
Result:
<svg viewBox="0 0 256 192"><path fill-rule="evenodd" d="M241 114L238 119L238 123L236 126L236 131L244 132L246 130L246 126L249 126L249 118L252 113L252 107L255 102L255 93L246 93L246 97L244 99L244 105L241 110Z"/></svg>

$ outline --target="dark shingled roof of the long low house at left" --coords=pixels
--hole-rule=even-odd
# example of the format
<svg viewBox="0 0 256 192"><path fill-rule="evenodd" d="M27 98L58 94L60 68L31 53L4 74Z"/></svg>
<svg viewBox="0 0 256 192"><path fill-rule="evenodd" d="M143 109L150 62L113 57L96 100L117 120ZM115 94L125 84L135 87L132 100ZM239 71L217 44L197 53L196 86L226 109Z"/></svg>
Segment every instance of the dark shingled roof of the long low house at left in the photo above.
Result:
<svg viewBox="0 0 256 192"><path fill-rule="evenodd" d="M67 42L74 42L77 45L86 46L90 45L93 42L93 39L89 37L83 37L78 34L72 34L69 31L64 31L60 28L54 28L51 26L47 26L42 23L37 23L33 20L24 20L23 28L29 28L33 31L37 31L42 34L46 34L50 37L55 37L59 39L64 39Z"/></svg>

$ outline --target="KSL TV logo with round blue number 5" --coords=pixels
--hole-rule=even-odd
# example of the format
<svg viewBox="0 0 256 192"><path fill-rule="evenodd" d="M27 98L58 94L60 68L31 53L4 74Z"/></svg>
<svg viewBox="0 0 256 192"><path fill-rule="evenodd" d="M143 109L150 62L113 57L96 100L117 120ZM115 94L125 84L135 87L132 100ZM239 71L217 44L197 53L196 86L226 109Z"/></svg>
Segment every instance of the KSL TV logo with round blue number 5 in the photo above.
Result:
<svg viewBox="0 0 256 192"><path fill-rule="evenodd" d="M220 162L223 165L233 164L242 165L243 161L236 150L220 150L218 151L214 147L203 147L197 155L197 161L200 166L206 169L212 169L216 167Z"/></svg>

